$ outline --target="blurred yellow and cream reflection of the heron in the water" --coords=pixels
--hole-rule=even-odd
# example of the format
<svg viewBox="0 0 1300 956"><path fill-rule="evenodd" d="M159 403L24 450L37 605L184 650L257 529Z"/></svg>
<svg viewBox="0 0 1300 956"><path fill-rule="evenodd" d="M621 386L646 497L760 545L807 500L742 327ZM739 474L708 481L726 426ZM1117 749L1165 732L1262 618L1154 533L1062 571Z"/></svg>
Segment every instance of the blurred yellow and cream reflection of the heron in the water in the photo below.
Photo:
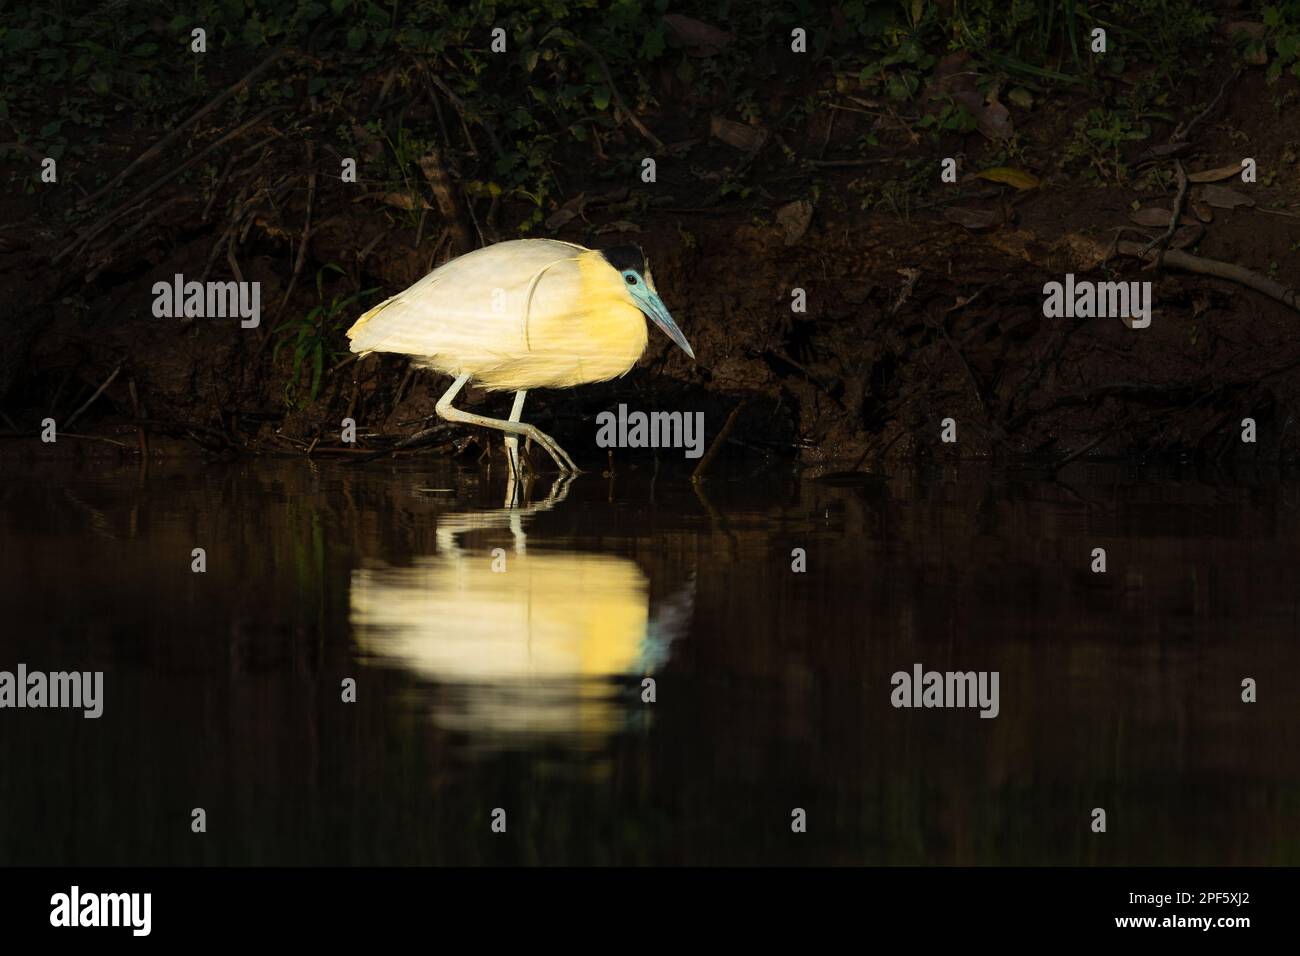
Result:
<svg viewBox="0 0 1300 956"><path fill-rule="evenodd" d="M445 685L434 709L441 726L599 743L624 719L619 679L662 667L689 623L693 579L651 613L650 583L629 558L526 550L524 519L567 493L562 479L536 505L442 515L437 554L411 567L354 571L358 644L368 657ZM506 528L512 553L458 540ZM644 706L625 697L633 700Z"/></svg>

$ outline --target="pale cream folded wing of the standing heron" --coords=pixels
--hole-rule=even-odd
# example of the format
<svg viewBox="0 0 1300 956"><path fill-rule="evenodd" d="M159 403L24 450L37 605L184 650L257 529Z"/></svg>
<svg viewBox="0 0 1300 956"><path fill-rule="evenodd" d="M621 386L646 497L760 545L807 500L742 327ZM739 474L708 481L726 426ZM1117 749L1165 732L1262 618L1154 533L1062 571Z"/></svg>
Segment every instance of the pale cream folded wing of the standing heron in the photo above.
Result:
<svg viewBox="0 0 1300 956"><path fill-rule="evenodd" d="M558 239L515 239L468 252L363 315L347 332L351 349L458 356L467 369L526 351L538 281L586 251Z"/></svg>

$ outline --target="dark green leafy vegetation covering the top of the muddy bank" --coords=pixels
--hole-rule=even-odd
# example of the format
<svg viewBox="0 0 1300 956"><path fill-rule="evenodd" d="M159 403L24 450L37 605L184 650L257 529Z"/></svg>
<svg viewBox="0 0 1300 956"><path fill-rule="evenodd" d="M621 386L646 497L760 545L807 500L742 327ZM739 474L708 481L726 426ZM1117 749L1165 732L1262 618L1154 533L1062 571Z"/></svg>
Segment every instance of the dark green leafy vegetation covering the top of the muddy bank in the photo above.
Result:
<svg viewBox="0 0 1300 956"><path fill-rule="evenodd" d="M608 176L630 172L611 168L633 161L632 151L620 147L636 140L619 101L638 114L663 105L650 82L660 65L693 91L689 100L699 109L725 104L738 120L757 124L764 120L762 83L775 69L772 44L784 43L797 25L809 31L812 68L824 59L852 66L863 91L902 101L918 96L952 51L976 59L985 90L1027 83L1032 88L1017 91L1026 100L1043 85L1095 85L1122 70L1134 51L1171 85L1196 69L1195 49L1214 23L1195 0L845 0L831 12L779 0L109 0L88 12L83 7L6 5L0 12L0 121L16 130L12 148L58 159L70 138L78 148L94 147L109 126L174 122L220 88L211 74L231 55L247 60L286 44L309 51L316 68L266 81L238 108L300 100L306 92L328 108L364 113L358 100L374 75L385 74L398 99L437 82L456 103L439 117L437 134L464 160L458 172L486 202L517 204L516 228L525 233L564 200L564 173L575 156L604 157ZM1297 7L1300 0L1287 0L1265 9L1271 72L1300 70ZM686 56L666 23L670 12L715 23L732 42L707 57ZM506 31L504 53L491 49L498 26ZM1110 31L1123 51L1080 55L1093 26ZM195 27L207 31L207 57L188 55ZM797 107L780 118L806 113L807 107ZM391 120L356 118L402 146ZM941 133L968 131L974 124L959 107L941 103L916 126ZM390 150L395 168L377 179L419 182L408 159Z"/></svg>

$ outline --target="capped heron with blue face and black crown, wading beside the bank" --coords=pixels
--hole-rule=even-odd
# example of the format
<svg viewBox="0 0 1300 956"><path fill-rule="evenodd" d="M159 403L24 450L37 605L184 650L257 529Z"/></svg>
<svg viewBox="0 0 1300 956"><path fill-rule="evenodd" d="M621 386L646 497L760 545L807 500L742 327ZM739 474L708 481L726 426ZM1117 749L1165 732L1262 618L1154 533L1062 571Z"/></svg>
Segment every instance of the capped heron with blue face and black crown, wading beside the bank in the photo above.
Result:
<svg viewBox="0 0 1300 956"><path fill-rule="evenodd" d="M506 432L512 475L519 473L520 434L546 449L562 472L577 472L554 438L520 421L524 397L529 389L625 375L646 347L642 313L696 358L659 299L640 247L514 239L443 263L358 319L347 337L354 352L400 352L452 376L438 415ZM471 380L490 392L514 392L510 419L452 407Z"/></svg>

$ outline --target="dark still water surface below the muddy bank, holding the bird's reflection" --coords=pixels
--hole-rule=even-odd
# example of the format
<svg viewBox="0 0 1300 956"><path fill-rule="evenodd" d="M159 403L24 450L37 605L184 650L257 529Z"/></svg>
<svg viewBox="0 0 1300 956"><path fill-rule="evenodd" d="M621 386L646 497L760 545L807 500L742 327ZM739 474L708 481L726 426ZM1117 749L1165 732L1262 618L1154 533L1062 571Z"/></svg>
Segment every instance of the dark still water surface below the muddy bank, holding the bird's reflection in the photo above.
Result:
<svg viewBox="0 0 1300 956"><path fill-rule="evenodd" d="M5 466L0 862L1300 862L1300 488L1075 477Z"/></svg>

